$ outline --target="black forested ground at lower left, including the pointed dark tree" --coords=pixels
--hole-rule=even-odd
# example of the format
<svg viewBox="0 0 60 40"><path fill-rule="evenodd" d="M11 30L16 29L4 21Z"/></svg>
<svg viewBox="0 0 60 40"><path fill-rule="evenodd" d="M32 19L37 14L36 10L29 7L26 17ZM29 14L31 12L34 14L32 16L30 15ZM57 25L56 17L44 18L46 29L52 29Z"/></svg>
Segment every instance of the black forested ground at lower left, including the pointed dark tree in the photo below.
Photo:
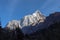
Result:
<svg viewBox="0 0 60 40"><path fill-rule="evenodd" d="M23 40L24 34L20 28L16 30L6 30L0 27L0 40Z"/></svg>

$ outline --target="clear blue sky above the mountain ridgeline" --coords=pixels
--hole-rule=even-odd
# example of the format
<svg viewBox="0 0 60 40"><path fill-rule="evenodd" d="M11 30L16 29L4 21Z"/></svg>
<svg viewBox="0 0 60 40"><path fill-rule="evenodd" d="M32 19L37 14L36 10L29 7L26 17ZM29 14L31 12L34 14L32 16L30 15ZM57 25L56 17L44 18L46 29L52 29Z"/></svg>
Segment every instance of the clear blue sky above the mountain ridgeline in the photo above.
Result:
<svg viewBox="0 0 60 40"><path fill-rule="evenodd" d="M60 12L60 0L0 0L2 26L10 20L20 20L36 10L40 10L45 16Z"/></svg>

